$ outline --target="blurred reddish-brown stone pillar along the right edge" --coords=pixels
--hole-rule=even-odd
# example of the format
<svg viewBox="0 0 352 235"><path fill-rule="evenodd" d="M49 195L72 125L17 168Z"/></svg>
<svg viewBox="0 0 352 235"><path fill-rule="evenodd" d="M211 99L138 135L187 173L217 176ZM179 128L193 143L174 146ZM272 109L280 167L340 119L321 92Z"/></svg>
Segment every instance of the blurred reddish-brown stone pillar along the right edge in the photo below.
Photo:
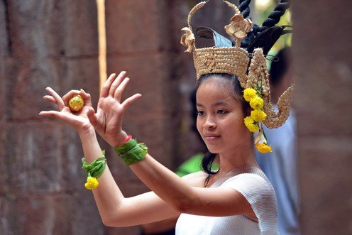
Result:
<svg viewBox="0 0 352 235"><path fill-rule="evenodd" d="M352 234L351 1L292 1L303 234Z"/></svg>

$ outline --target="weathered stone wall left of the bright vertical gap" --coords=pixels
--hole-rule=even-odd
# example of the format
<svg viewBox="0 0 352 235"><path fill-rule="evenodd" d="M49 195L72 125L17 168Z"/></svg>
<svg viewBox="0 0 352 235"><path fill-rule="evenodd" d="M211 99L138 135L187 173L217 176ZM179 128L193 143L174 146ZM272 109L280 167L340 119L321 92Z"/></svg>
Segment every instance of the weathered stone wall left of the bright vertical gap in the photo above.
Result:
<svg viewBox="0 0 352 235"><path fill-rule="evenodd" d="M42 97L83 88L97 102L95 1L0 1L0 234L103 234L73 129Z"/></svg>

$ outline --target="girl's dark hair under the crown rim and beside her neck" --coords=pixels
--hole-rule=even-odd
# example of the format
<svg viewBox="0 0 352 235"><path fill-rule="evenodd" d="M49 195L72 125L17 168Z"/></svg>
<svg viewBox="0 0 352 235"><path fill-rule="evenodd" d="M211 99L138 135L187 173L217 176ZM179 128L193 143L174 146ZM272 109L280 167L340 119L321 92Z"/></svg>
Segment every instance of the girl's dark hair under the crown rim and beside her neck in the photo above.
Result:
<svg viewBox="0 0 352 235"><path fill-rule="evenodd" d="M249 115L249 112L251 111L251 109L250 109L249 103L243 99L243 89L236 75L229 75L226 73L209 73L207 75L202 75L201 77L199 77L196 92L200 84L202 84L202 82L204 82L205 80L208 80L209 77L221 77L223 81L231 82L232 87L229 87L229 89L232 89L233 94L235 94L236 98L239 98L241 100L243 113L247 116ZM226 85L225 83L222 83L222 84ZM206 155L204 155L204 158L202 159L202 168L204 172L208 174L207 179L204 182L204 186L208 185L211 175L215 175L219 171L219 170L218 171L211 170L215 158L216 158L216 153L208 152Z"/></svg>

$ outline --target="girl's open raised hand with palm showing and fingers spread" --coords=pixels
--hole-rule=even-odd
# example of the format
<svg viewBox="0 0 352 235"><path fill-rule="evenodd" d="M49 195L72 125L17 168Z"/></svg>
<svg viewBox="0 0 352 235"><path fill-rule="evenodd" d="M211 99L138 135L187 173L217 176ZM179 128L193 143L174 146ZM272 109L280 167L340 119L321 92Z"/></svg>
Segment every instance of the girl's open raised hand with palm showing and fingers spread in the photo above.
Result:
<svg viewBox="0 0 352 235"><path fill-rule="evenodd" d="M127 136L121 127L124 112L128 106L141 97L141 94L133 94L121 102L123 90L129 82L129 78L125 76L125 71L120 72L118 76L114 73L110 75L101 89L97 113L94 113L92 107L87 113L95 130L113 147L116 147Z"/></svg>

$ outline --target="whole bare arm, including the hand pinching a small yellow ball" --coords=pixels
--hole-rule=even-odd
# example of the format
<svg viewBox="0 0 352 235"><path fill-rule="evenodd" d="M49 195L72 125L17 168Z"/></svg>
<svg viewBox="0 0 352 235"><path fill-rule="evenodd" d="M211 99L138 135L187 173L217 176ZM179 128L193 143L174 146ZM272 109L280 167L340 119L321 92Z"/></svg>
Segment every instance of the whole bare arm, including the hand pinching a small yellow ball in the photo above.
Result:
<svg viewBox="0 0 352 235"><path fill-rule="evenodd" d="M93 126L87 118L87 111L91 106L90 96L84 91L72 90L64 97L60 97L53 89L47 88L50 95L44 99L57 104L60 111L41 111L41 116L50 116L65 121L78 133L82 141L84 158L87 163L101 157L101 148ZM67 107L67 100L73 94L81 94L84 98L82 111L73 114ZM78 160L78 159L77 159ZM82 170L82 175L84 171ZM131 226L156 222L175 217L175 212L169 205L160 199L154 192L148 192L136 197L123 197L121 190L112 177L108 165L99 177L99 186L93 190L94 200L97 203L101 219L107 226ZM145 216L148 214L148 216Z"/></svg>

